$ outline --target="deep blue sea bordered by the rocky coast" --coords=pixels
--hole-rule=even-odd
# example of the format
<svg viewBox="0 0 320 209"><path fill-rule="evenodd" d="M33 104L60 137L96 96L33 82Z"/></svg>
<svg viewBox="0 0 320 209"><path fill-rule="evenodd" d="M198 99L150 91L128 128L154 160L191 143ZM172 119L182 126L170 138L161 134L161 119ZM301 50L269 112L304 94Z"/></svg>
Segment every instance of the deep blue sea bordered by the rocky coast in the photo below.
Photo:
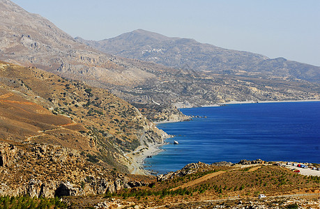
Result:
<svg viewBox="0 0 320 209"><path fill-rule="evenodd" d="M320 102L228 104L181 111L206 118L159 124L175 137L167 139L162 153L145 160L145 169L167 173L191 162L258 158L320 163Z"/></svg>

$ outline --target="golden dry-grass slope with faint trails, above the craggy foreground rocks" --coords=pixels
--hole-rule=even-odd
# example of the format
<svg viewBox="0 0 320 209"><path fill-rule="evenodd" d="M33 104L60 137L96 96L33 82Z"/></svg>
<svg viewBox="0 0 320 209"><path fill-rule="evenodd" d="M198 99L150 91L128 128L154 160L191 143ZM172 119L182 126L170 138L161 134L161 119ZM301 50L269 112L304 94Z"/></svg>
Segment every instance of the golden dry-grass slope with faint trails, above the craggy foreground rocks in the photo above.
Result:
<svg viewBox="0 0 320 209"><path fill-rule="evenodd" d="M75 148L128 172L123 151L140 137L160 139L135 107L107 90L91 88L37 68L1 63L0 139Z"/></svg>

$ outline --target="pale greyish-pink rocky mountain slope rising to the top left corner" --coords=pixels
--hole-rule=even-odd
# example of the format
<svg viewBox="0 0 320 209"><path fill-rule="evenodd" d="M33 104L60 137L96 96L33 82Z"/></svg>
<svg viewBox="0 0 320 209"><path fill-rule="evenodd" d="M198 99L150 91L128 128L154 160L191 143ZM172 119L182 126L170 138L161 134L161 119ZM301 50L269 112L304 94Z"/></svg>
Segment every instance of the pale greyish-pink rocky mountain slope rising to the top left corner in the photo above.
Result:
<svg viewBox="0 0 320 209"><path fill-rule="evenodd" d="M141 83L154 76L122 59L87 47L40 15L0 1L0 60L36 66L73 79Z"/></svg>

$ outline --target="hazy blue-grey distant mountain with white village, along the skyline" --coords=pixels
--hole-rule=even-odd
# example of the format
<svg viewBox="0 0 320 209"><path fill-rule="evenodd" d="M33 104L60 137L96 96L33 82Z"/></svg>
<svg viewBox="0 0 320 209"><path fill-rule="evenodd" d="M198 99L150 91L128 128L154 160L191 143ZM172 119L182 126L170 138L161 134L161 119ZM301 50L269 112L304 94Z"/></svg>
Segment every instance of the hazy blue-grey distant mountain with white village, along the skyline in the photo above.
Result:
<svg viewBox="0 0 320 209"><path fill-rule="evenodd" d="M320 67L317 66L223 49L189 38L169 38L142 29L100 41L76 39L102 52L153 61L174 68L249 77L293 77L310 82L320 81Z"/></svg>

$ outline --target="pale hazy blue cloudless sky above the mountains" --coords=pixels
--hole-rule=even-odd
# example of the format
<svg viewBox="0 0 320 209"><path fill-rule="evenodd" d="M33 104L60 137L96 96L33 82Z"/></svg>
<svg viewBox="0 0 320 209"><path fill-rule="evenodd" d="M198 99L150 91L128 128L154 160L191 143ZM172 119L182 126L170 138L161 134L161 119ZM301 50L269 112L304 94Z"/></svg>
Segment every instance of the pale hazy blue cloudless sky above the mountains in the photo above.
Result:
<svg viewBox="0 0 320 209"><path fill-rule="evenodd" d="M144 29L320 66L319 0L13 0L71 36Z"/></svg>

